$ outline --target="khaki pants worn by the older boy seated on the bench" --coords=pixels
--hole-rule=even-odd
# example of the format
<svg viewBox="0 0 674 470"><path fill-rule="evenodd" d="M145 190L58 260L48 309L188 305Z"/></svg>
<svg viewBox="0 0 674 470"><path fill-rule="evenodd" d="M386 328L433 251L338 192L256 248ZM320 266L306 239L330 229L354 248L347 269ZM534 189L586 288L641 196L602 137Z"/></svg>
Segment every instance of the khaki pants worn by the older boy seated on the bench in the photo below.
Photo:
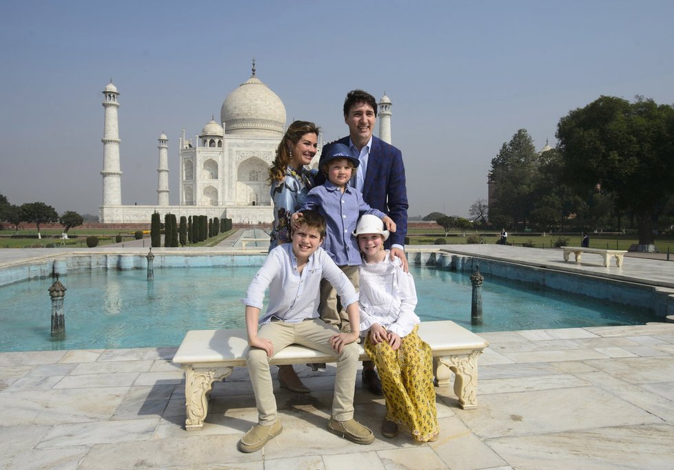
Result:
<svg viewBox="0 0 674 470"><path fill-rule="evenodd" d="M347 344L340 354L329 343L331 337L339 333L336 328L318 318L299 323L272 322L264 324L258 336L274 344L274 353L278 353L290 344L301 344L337 358L335 375L335 394L332 400L332 417L338 421L354 417L354 386L358 367L358 346ZM276 419L276 398L269 371L269 358L264 349L251 348L248 352L248 373L255 393L258 408L258 423L268 426Z"/></svg>

